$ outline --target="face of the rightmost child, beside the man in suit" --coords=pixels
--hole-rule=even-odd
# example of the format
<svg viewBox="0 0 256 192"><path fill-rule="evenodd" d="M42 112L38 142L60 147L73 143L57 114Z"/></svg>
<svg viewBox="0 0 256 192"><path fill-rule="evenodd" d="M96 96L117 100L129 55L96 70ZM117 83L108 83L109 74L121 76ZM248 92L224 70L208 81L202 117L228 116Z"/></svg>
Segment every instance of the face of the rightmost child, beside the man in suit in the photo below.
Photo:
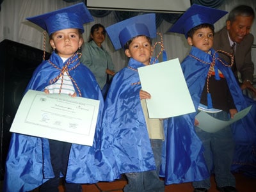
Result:
<svg viewBox="0 0 256 192"><path fill-rule="evenodd" d="M188 37L188 44L193 45L204 52L208 52L213 45L212 30L210 28L197 29L192 38Z"/></svg>

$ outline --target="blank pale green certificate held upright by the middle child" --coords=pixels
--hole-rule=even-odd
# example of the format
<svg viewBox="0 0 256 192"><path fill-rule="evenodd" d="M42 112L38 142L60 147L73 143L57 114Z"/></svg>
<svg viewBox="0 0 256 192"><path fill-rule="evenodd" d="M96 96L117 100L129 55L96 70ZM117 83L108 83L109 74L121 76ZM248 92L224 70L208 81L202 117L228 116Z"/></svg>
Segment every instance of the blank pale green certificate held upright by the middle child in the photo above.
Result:
<svg viewBox="0 0 256 192"><path fill-rule="evenodd" d="M195 112L179 59L138 68L150 118L168 118Z"/></svg>

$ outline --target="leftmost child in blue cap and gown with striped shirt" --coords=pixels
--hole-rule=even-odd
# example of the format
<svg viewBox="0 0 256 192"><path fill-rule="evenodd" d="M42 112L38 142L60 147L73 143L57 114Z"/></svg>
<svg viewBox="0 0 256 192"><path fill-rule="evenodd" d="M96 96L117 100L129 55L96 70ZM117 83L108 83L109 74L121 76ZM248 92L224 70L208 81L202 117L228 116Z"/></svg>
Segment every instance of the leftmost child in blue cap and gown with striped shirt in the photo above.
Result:
<svg viewBox="0 0 256 192"><path fill-rule="evenodd" d="M92 147L48 140L23 134L12 134L6 160L4 191L58 191L64 178L66 191L82 191L81 183L114 180L115 163L100 152L100 129L104 102L92 72L80 63L77 50L83 44L83 24L93 20L84 3L55 12L28 18L45 29L54 51L33 73L26 92L68 94L100 100L99 114ZM109 156L111 154L109 153Z"/></svg>

